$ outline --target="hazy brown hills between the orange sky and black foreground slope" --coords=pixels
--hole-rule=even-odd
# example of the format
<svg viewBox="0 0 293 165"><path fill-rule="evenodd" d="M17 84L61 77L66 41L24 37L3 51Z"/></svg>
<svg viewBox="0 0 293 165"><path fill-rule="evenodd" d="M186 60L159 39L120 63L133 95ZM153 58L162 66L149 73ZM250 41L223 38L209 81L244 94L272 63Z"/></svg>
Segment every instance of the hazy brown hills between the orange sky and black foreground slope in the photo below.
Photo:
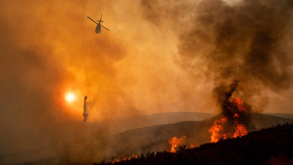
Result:
<svg viewBox="0 0 293 165"><path fill-rule="evenodd" d="M42 149L2 155L0 163L31 161L57 156L62 154L59 152L59 147L64 144L71 148L70 150L76 151L72 155L80 154L82 148L82 152L91 155L91 157L169 150L168 140L174 136L178 138L186 136L187 145L193 143L198 146L210 141L208 129L212 126L213 119L208 119L216 117L215 115L198 112L169 112L148 116L136 115L105 122L54 123L50 124L47 130L43 128L43 131L46 133L45 136L51 136L48 141L59 140L58 143ZM196 119L198 121L195 121ZM292 121L287 118L263 114L254 114L252 118L257 129ZM83 148L84 146L91 146L91 150ZM89 151L91 152L88 153Z"/></svg>

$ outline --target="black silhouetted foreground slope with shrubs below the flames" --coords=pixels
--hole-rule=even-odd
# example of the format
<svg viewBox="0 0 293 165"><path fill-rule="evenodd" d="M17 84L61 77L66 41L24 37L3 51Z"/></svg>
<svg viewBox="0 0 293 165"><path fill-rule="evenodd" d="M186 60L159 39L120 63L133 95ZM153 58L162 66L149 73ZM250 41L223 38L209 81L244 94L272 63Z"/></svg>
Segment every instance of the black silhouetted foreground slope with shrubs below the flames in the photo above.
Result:
<svg viewBox="0 0 293 165"><path fill-rule="evenodd" d="M221 139L193 149L179 147L177 153L147 153L119 162L102 164L293 164L293 123L273 126L246 136Z"/></svg>

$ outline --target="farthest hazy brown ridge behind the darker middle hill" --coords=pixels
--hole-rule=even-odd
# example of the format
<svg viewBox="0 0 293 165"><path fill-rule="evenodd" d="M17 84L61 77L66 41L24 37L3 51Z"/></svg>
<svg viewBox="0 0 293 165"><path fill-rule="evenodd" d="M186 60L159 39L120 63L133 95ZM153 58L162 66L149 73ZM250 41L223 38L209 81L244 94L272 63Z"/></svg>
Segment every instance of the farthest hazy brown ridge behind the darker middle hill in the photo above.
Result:
<svg viewBox="0 0 293 165"><path fill-rule="evenodd" d="M79 137L78 140L88 140L142 127L172 124L182 121L202 121L215 115L199 112L168 112L148 116L135 115L121 117L109 119L104 122L68 121L49 124L43 128L43 132L46 132L55 141L63 140L71 142L74 140L72 137Z"/></svg>

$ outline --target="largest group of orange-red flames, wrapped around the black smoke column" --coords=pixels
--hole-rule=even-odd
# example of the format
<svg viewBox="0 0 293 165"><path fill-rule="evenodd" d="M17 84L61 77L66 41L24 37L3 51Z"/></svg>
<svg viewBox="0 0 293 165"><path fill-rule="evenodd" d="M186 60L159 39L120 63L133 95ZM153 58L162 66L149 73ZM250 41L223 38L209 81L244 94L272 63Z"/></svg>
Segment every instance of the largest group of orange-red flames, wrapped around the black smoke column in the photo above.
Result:
<svg viewBox="0 0 293 165"><path fill-rule="evenodd" d="M236 97L235 100L231 100L231 102L234 102L236 104L239 112L247 112L248 107L243 106L243 101L239 97ZM240 114L234 112L234 134L231 134L230 132L228 134L222 133L224 131L224 123L227 121L227 117L222 116L222 119L214 121L214 125L209 129L209 133L212 134L211 142L218 142L221 137L226 139L227 137L241 137L243 135L246 135L248 132L245 126L239 123L240 116Z"/></svg>

